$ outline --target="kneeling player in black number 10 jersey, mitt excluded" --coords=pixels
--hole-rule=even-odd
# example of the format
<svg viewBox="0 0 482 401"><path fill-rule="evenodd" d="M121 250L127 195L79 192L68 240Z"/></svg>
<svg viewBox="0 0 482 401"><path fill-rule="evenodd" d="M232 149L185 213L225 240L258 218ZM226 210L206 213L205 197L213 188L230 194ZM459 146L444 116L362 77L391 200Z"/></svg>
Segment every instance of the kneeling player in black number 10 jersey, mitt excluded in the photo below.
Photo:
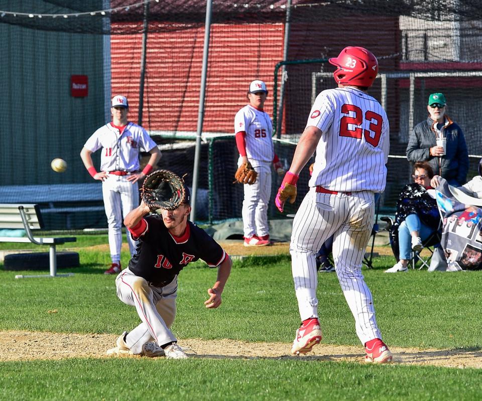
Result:
<svg viewBox="0 0 482 401"><path fill-rule="evenodd" d="M136 307L142 323L124 332L108 354L187 358L170 327L176 315L177 276L189 262L202 259L209 267L218 267L217 280L207 290L209 299L204 304L206 308L221 305L231 259L204 230L187 221L191 212L187 187L184 199L173 211L161 210L161 216L148 216L149 207L141 202L124 220L139 239L139 247L129 267L117 275L115 285L119 299Z"/></svg>

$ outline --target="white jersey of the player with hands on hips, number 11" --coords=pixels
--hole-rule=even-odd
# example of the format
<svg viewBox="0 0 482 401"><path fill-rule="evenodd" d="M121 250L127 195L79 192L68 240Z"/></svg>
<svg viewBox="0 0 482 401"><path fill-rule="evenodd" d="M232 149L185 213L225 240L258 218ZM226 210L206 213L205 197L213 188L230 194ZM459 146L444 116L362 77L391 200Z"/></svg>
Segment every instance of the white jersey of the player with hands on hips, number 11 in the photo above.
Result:
<svg viewBox="0 0 482 401"><path fill-rule="evenodd" d="M91 152L102 148L100 156L101 171L137 171L139 170L139 152L141 148L149 152L156 145L147 131L132 122L127 123L122 135L119 130L107 123L97 129L84 147Z"/></svg>

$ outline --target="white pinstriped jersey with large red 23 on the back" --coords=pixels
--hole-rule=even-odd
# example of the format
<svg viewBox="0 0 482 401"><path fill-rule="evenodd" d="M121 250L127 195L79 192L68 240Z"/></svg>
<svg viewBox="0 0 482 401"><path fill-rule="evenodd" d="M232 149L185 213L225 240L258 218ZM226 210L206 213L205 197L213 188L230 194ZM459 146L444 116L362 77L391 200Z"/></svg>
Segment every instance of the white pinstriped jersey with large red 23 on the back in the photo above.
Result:
<svg viewBox="0 0 482 401"><path fill-rule="evenodd" d="M343 192L385 189L390 129L375 98L351 87L325 90L306 125L323 132L310 186Z"/></svg>

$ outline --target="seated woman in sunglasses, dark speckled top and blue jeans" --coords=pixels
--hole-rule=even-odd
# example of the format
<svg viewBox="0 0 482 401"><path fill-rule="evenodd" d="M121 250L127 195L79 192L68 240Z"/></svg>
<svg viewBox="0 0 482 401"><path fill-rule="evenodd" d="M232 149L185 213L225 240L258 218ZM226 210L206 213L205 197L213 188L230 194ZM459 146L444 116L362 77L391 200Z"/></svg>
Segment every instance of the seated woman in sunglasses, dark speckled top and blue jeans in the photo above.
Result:
<svg viewBox="0 0 482 401"><path fill-rule="evenodd" d="M400 193L395 223L390 228L390 243L398 262L385 273L407 272L412 251L420 252L422 241L439 227L440 214L430 186L433 175L427 162L418 161L413 165L415 182L406 185Z"/></svg>

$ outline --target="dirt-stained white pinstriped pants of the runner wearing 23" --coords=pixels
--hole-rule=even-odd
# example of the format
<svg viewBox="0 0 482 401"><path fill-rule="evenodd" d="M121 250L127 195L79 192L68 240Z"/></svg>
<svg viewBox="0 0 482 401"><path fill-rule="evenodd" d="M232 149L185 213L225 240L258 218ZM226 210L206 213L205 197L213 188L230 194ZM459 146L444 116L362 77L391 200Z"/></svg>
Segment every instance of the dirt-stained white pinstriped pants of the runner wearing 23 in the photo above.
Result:
<svg viewBox="0 0 482 401"><path fill-rule="evenodd" d="M294 218L290 245L296 298L301 320L305 320L318 317L316 252L326 239L334 236L336 274L362 344L382 338L375 319L372 293L362 274L374 210L373 192L333 195L317 193L312 187Z"/></svg>

